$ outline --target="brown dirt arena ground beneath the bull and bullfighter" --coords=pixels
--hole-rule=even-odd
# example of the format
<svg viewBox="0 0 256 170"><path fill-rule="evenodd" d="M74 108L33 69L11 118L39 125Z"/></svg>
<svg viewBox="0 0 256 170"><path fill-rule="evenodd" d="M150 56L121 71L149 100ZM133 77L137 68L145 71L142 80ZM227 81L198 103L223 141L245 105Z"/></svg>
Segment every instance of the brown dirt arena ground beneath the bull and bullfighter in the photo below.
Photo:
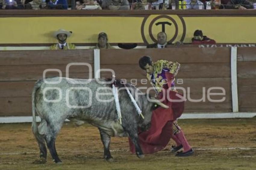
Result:
<svg viewBox="0 0 256 170"><path fill-rule="evenodd" d="M175 157L170 146L139 159L129 152L128 138L111 138L114 162L103 159L98 129L89 124L65 123L56 140L61 165L48 152L46 164L33 164L39 148L30 123L0 124L0 169L256 169L256 118L179 120L195 150L190 157Z"/></svg>

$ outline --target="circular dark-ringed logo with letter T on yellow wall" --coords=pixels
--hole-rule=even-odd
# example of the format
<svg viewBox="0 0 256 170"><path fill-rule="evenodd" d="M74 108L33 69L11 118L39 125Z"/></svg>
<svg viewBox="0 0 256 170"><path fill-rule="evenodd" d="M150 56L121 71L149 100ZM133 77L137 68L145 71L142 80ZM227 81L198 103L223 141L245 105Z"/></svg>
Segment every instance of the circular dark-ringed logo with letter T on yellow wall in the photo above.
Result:
<svg viewBox="0 0 256 170"><path fill-rule="evenodd" d="M183 18L177 15L150 15L145 17L141 26L144 43L156 43L159 32L166 33L168 43L183 41L186 35L186 25Z"/></svg>

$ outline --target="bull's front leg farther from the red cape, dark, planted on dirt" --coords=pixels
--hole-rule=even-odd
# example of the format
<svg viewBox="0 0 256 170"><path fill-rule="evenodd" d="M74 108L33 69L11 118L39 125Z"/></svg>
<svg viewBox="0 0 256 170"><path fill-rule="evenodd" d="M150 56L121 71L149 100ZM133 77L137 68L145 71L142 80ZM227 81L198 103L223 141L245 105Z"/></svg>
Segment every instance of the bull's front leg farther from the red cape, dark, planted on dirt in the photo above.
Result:
<svg viewBox="0 0 256 170"><path fill-rule="evenodd" d="M99 131L100 131L100 135L101 135L101 141L104 145L104 158L107 161L112 162L114 159L111 156L111 153L109 151L110 136L106 132L104 132L103 129L99 128Z"/></svg>

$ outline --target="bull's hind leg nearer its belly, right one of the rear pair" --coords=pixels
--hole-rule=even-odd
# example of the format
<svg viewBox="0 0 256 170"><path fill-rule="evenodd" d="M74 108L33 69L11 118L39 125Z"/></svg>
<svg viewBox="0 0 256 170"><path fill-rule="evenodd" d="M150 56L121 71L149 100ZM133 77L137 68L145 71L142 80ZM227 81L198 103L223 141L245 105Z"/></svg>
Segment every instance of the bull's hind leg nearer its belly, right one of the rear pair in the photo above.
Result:
<svg viewBox="0 0 256 170"><path fill-rule="evenodd" d="M45 135L45 140L46 140L46 144L47 147L52 155L52 159L55 163L61 163L61 160L57 154L56 148L55 148L55 139L56 136L59 132L59 129L56 129L56 127L54 128L49 128L47 134Z"/></svg>

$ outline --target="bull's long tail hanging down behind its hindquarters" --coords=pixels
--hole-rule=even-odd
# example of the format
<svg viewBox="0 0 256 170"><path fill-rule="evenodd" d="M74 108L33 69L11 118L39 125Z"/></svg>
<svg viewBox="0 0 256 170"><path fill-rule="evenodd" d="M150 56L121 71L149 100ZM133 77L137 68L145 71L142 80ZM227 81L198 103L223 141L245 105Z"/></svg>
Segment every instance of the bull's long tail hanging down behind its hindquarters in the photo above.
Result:
<svg viewBox="0 0 256 170"><path fill-rule="evenodd" d="M32 117L33 117L33 120L32 120L32 131L33 131L33 134L34 134L36 140L39 143L44 143L43 135L39 134L38 127L37 127L37 124L36 124L36 105L35 105L36 91L41 87L41 85L42 85L42 81L38 80L35 83L35 86L34 86L33 92L32 92Z"/></svg>

